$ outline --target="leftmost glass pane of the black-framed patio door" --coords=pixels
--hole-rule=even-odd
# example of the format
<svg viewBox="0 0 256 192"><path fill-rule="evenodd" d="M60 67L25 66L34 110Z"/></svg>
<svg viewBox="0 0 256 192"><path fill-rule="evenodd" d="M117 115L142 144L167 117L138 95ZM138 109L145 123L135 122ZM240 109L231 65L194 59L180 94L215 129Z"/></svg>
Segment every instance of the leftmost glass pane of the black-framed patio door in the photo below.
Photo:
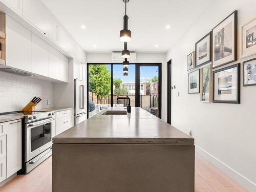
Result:
<svg viewBox="0 0 256 192"><path fill-rule="evenodd" d="M88 65L89 118L111 106L111 65Z"/></svg>

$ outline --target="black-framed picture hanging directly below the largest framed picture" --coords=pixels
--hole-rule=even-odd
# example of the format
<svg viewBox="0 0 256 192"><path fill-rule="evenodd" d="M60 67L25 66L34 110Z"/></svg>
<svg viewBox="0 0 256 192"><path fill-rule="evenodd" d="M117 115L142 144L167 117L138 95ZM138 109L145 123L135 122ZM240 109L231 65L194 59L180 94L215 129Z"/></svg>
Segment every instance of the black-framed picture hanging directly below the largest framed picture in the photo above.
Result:
<svg viewBox="0 0 256 192"><path fill-rule="evenodd" d="M212 80L212 102L240 103L240 63L214 71Z"/></svg>

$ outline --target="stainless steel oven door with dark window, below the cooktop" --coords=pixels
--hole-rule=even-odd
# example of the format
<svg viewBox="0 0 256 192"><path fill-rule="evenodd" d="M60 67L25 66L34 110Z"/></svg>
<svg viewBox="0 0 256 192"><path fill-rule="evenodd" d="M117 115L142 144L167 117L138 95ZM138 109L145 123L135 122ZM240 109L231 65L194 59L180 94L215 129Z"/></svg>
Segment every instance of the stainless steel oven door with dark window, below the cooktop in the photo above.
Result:
<svg viewBox="0 0 256 192"><path fill-rule="evenodd" d="M52 130L55 130L54 126L53 118L26 124L26 162L52 146Z"/></svg>

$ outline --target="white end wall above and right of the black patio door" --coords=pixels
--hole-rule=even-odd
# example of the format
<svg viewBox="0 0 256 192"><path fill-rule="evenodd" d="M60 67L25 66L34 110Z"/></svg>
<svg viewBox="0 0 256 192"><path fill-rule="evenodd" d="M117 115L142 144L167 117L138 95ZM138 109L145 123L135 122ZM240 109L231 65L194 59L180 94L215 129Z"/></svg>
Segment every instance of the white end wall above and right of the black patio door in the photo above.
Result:
<svg viewBox="0 0 256 192"><path fill-rule="evenodd" d="M137 53L137 63L162 63L162 119L167 121L167 62L163 53ZM87 63L112 63L111 53L87 53Z"/></svg>

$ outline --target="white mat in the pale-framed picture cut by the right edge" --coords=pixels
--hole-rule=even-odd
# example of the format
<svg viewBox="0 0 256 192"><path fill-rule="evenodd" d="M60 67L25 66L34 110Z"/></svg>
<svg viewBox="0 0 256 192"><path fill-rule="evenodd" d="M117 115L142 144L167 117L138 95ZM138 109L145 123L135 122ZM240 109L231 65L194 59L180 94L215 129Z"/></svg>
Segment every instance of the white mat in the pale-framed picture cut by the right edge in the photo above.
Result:
<svg viewBox="0 0 256 192"><path fill-rule="evenodd" d="M256 54L256 45L246 49L246 31L254 26L256 26L256 18L241 27L241 58L249 57L251 55Z"/></svg>

